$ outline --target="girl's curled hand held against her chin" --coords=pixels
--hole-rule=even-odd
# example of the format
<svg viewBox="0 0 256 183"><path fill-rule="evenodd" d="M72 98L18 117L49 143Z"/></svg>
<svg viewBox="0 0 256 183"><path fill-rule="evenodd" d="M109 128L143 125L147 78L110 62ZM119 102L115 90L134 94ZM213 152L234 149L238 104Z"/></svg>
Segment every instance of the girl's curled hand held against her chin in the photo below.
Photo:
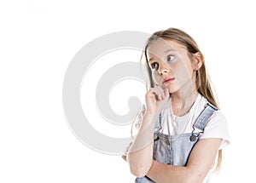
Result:
<svg viewBox="0 0 256 183"><path fill-rule="evenodd" d="M150 115L158 115L169 98L170 94L168 93L168 89L163 90L158 85L154 88L150 88L146 94L146 113Z"/></svg>

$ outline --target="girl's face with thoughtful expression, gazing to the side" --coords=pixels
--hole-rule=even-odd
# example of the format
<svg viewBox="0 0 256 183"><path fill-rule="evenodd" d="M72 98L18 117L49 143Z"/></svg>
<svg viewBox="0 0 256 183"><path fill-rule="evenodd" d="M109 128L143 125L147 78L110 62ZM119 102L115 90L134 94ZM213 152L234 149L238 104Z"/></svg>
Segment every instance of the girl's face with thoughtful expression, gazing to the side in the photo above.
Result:
<svg viewBox="0 0 256 183"><path fill-rule="evenodd" d="M181 89L195 89L198 60L194 55L189 58L183 45L159 38L149 44L147 57L157 85L167 88L171 94Z"/></svg>

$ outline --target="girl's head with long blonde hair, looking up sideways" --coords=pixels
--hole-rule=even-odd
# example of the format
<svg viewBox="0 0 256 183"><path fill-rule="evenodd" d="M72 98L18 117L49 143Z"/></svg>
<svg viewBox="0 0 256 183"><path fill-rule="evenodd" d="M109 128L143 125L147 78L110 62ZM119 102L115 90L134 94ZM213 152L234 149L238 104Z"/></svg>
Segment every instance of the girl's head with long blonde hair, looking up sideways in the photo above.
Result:
<svg viewBox="0 0 256 183"><path fill-rule="evenodd" d="M197 90L212 105L214 99L203 55L195 40L176 28L156 31L145 45L149 79L169 90L169 93ZM150 77L151 73L153 78Z"/></svg>

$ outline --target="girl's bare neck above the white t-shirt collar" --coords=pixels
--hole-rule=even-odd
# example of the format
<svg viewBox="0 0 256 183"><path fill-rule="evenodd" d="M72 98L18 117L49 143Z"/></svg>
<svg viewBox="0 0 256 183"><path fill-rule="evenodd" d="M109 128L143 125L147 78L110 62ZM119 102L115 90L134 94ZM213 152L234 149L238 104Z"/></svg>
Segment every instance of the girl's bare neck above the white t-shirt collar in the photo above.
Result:
<svg viewBox="0 0 256 183"><path fill-rule="evenodd" d="M191 90L190 90L191 91ZM172 94L172 112L175 116L183 116L189 112L195 100L198 96L197 89L194 89L192 93L182 93L178 91Z"/></svg>

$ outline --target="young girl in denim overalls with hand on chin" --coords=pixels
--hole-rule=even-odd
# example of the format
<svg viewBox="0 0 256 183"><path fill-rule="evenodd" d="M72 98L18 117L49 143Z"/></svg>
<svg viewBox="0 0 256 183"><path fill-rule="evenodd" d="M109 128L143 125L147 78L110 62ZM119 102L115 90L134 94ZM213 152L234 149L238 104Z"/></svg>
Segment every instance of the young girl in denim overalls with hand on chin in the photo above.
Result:
<svg viewBox="0 0 256 183"><path fill-rule="evenodd" d="M229 136L203 55L192 37L175 28L149 37L144 54L151 88L124 156L131 173L137 183L208 182Z"/></svg>

